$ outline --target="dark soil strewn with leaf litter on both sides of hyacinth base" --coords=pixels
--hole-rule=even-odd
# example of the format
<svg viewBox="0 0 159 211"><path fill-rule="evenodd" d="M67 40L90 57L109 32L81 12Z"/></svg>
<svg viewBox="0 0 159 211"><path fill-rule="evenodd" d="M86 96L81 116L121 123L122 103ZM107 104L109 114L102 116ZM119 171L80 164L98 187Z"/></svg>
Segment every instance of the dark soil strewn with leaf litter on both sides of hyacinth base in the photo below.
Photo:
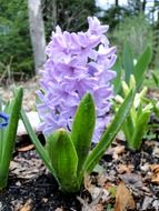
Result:
<svg viewBox="0 0 159 211"><path fill-rule="evenodd" d="M24 149L26 147L28 149ZM0 211L113 211L120 181L129 189L136 211L159 210L159 140L143 141L141 151L130 151L117 139L103 155L87 190L77 194L60 192L28 139L17 144L8 188L0 193ZM24 149L24 150L23 150ZM108 194L97 193L97 190ZM103 199L105 198L105 199ZM126 209L129 210L129 209Z"/></svg>

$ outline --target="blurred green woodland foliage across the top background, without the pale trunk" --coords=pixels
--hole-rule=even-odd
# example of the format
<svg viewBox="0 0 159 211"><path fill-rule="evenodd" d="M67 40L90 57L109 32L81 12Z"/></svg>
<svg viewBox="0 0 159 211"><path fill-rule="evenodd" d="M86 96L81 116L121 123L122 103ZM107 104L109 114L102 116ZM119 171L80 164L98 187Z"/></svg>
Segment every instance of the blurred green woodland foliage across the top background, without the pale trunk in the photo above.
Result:
<svg viewBox="0 0 159 211"><path fill-rule="evenodd" d="M147 0L128 0L127 7L119 2L103 9L96 0L41 0L47 42L57 24L68 31L86 30L87 17L97 16L110 26L108 37L117 46L119 57L126 41L137 59L149 43L153 50L150 66L159 69L159 1L153 1L149 12ZM27 0L0 0L0 74L6 71L17 78L34 74Z"/></svg>

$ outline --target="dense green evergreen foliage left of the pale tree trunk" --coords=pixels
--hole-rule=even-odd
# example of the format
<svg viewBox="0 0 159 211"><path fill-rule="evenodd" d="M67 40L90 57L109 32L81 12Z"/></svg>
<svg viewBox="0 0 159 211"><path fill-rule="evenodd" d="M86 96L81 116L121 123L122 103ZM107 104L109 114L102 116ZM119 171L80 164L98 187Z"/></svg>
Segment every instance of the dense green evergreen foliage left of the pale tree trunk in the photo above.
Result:
<svg viewBox="0 0 159 211"><path fill-rule="evenodd" d="M19 72L32 72L32 48L24 0L0 0L0 67L10 64L10 70L17 76ZM0 68L1 73L4 70Z"/></svg>

